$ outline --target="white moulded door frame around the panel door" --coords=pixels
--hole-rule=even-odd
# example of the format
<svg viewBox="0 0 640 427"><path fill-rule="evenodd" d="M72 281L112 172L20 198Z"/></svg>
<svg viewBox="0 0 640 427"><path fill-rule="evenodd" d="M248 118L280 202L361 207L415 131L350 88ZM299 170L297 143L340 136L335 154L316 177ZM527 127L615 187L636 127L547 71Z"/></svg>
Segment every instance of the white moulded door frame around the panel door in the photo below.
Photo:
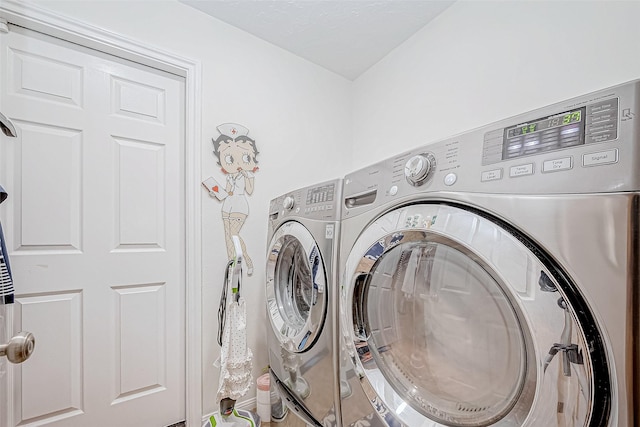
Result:
<svg viewBox="0 0 640 427"><path fill-rule="evenodd" d="M202 251L200 207L201 64L120 34L17 0L3 0L0 21L166 71L185 79L185 405L187 426L202 423ZM0 27L0 31L2 28ZM189 313L186 316L186 313ZM11 410L11 408L9 408Z"/></svg>

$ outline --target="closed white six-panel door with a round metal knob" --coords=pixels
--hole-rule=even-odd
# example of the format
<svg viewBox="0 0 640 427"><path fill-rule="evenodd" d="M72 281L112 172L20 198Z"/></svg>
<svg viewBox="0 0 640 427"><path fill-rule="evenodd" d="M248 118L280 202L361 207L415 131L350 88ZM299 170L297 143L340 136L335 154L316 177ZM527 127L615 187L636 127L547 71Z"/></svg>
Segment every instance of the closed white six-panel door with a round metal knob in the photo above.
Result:
<svg viewBox="0 0 640 427"><path fill-rule="evenodd" d="M0 39L18 131L0 153L9 322L36 337L31 359L0 365L4 423L180 422L184 79L18 27Z"/></svg>

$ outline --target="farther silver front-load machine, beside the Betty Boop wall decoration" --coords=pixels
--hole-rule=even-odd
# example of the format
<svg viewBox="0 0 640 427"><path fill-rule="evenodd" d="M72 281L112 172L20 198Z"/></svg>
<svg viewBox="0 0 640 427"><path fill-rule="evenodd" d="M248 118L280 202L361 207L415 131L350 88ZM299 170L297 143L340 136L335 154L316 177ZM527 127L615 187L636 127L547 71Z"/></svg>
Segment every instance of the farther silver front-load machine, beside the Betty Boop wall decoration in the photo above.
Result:
<svg viewBox="0 0 640 427"><path fill-rule="evenodd" d="M335 307L342 181L271 201L267 241L267 344L286 425L336 424ZM292 415L296 414L296 415Z"/></svg>

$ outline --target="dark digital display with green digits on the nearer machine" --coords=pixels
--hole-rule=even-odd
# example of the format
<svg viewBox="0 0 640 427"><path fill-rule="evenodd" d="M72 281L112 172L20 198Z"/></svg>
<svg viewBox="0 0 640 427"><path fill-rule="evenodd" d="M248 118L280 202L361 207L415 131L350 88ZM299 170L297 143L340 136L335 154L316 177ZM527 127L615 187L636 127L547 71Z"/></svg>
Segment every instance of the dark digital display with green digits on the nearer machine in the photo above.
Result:
<svg viewBox="0 0 640 427"><path fill-rule="evenodd" d="M504 129L502 160L584 144L585 107Z"/></svg>

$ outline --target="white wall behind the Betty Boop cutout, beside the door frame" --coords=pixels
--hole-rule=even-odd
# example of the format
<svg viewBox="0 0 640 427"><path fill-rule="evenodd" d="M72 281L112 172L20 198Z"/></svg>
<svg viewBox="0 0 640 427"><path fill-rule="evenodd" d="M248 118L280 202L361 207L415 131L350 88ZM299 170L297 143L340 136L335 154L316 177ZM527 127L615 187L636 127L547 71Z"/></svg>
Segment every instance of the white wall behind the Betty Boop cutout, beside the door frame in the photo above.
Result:
<svg viewBox="0 0 640 427"><path fill-rule="evenodd" d="M212 137L225 122L249 128L260 154L241 236L256 264L243 282L254 378L268 364L264 259L269 201L291 189L344 175L351 141L352 83L176 1L33 2L202 64L202 177L224 177ZM317 149L317 150L316 150ZM338 155L336 155L338 154ZM217 410L217 309L226 265L221 204L202 199L203 411ZM187 313L188 315L188 313ZM255 389L246 399L255 397ZM242 402L240 402L242 403Z"/></svg>

